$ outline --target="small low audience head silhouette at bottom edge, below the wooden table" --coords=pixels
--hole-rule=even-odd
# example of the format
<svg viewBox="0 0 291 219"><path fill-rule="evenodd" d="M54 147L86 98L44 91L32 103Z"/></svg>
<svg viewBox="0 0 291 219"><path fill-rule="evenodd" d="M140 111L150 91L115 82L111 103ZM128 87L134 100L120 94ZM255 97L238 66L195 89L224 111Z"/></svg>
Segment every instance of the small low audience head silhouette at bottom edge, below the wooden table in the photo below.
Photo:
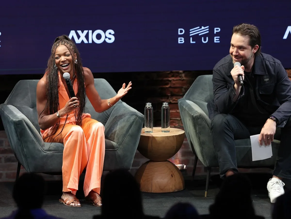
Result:
<svg viewBox="0 0 291 219"><path fill-rule="evenodd" d="M165 219L196 219L200 218L198 212L193 205L189 203L178 203L169 209Z"/></svg>

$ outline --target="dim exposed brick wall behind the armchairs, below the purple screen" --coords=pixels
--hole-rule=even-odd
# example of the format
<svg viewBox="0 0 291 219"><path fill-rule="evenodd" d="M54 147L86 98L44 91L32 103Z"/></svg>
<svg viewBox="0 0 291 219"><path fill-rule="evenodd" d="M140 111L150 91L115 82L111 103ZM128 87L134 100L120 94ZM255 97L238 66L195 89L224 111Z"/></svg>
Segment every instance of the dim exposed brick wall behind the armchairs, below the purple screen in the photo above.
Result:
<svg viewBox="0 0 291 219"><path fill-rule="evenodd" d="M287 70L291 80L291 70ZM211 71L172 71L172 72L132 72L132 73L111 73L94 74L95 78L105 78L111 86L117 91L123 82L132 81L133 89L123 98L123 101L143 113L146 102L152 102L154 108L154 126L161 124L161 106L162 102L169 102L171 127L183 129L180 118L178 99L182 98L192 85L197 76L202 74L212 74ZM39 79L40 76L29 79ZM11 84L10 88L15 84ZM7 84L5 85L7 86ZM8 88L7 88L8 89ZM175 156L169 159L175 164L185 164L187 167L187 175L192 174L194 164L194 154L185 137L184 143ZM148 161L138 151L135 154L132 173L144 163ZM8 143L5 131L0 131L0 181L14 181L17 170L17 162L13 155L12 149ZM271 171L269 169L243 169L244 172L255 171ZM22 168L21 172L25 172ZM218 169L212 170L217 173ZM198 161L196 174L205 174L204 166ZM61 176L43 175L47 180L59 180Z"/></svg>

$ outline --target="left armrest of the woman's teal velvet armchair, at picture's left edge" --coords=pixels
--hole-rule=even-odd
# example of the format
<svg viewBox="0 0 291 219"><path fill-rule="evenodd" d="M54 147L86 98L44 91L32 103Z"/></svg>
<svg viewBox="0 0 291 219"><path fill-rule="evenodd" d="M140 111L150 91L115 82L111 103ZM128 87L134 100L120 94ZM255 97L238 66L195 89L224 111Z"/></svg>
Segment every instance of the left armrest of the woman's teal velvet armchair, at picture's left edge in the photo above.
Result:
<svg viewBox="0 0 291 219"><path fill-rule="evenodd" d="M27 159L42 151L44 142L29 119L13 105L0 105L0 115L8 141L17 160L30 172Z"/></svg>

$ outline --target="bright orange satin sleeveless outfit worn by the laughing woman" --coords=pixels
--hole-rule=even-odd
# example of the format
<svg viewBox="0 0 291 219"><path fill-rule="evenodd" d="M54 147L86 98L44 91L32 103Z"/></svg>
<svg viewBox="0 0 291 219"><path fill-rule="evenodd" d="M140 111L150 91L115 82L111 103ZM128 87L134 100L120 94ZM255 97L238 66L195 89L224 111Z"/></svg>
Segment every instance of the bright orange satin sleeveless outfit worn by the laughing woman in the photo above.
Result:
<svg viewBox="0 0 291 219"><path fill-rule="evenodd" d="M61 75L58 72L59 82L59 109L63 108L70 100ZM73 84L74 92L78 92L77 79ZM60 125L56 133L50 136L52 128L40 129L45 142L64 143L63 151L63 192L72 191L76 195L79 177L86 168L84 179L84 195L87 196L91 190L100 194L101 176L103 171L105 155L105 128L101 122L91 119L89 113L83 114L81 126L76 125L74 111L60 119ZM63 126L65 127L63 131ZM58 135L59 134L59 135ZM58 135L58 136L57 136ZM46 138L49 136L48 138ZM56 138L54 138L56 136ZM54 140L53 140L54 139Z"/></svg>

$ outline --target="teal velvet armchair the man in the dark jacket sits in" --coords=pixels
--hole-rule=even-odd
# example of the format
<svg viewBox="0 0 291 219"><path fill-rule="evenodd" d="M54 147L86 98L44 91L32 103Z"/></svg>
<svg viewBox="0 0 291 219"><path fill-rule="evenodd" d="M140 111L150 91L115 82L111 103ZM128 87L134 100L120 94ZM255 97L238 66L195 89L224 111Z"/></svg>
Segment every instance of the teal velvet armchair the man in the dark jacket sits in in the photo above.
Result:
<svg viewBox="0 0 291 219"><path fill-rule="evenodd" d="M211 120L207 104L213 99L212 75L200 75L191 85L178 106L188 143L195 155L193 177L198 159L207 168L205 197L207 196L212 167L219 167L212 144ZM274 168L280 141L272 142L273 156L261 161L252 161L251 140L235 140L238 168Z"/></svg>

